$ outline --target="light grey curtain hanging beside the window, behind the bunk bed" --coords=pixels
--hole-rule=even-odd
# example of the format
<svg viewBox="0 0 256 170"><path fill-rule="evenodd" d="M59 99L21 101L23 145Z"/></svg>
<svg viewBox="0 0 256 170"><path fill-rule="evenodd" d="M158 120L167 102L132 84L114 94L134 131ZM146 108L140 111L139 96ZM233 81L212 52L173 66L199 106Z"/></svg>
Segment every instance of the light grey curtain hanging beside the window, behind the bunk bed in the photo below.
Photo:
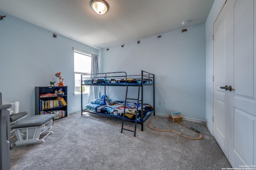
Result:
<svg viewBox="0 0 256 170"><path fill-rule="evenodd" d="M92 54L92 67L91 67L91 74L98 74L98 55ZM99 86L90 86L90 97L89 101L91 102L94 99L100 98L100 88Z"/></svg>

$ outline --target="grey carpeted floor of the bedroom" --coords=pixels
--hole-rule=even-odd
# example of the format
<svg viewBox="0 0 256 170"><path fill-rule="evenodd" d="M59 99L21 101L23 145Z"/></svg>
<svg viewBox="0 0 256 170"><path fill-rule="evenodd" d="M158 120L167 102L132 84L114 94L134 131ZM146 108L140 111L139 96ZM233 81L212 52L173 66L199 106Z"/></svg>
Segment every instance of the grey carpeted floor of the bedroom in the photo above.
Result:
<svg viewBox="0 0 256 170"><path fill-rule="evenodd" d="M130 131L121 133L122 121L95 114L70 113L53 121L52 135L41 144L15 146L10 139L11 170L221 170L232 168L218 143L204 123L184 121L198 129L200 140L191 140L172 132L159 132L137 126L136 137ZM190 129L170 124L168 119L155 119L156 128ZM177 126L176 126L177 125ZM126 122L126 128L134 123ZM193 133L193 134L192 134Z"/></svg>

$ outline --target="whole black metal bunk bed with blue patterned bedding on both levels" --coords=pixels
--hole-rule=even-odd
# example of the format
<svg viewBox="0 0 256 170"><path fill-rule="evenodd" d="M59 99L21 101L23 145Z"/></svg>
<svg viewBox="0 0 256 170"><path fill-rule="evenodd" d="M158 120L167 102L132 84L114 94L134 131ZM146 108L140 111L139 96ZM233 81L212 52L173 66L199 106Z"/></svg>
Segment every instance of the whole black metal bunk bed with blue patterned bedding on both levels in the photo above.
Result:
<svg viewBox="0 0 256 170"><path fill-rule="evenodd" d="M112 116L117 119L122 119L123 122L124 120L134 122L135 131L136 123L141 124L141 130L143 131L143 123L148 119L151 114L155 115L154 84L154 74L145 72L143 70L141 71L140 75L127 75L126 72L82 74L81 89L83 88L83 86L86 85L104 86L104 95L106 95L106 86L125 86L126 96L123 101L115 101L114 99L112 99L112 102L114 102L111 104L100 105L95 104L93 101L90 101L91 103L83 106L83 95L81 90L81 115L83 115L83 112L88 112L104 116ZM128 87L131 86L138 87L138 96L136 96L138 98L128 98ZM153 88L146 88L146 86L152 86ZM143 98L145 92L151 93L150 95L153 96L152 106L150 104L144 104ZM136 100L137 102L134 102L133 100ZM132 114L126 114L128 113L127 111Z"/></svg>

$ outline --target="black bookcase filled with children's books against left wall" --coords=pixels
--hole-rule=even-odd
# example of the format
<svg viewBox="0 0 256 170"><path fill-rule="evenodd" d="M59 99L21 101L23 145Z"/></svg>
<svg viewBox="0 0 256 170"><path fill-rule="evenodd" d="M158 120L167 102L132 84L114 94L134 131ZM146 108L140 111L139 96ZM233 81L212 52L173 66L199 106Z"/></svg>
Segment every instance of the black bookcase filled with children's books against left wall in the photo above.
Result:
<svg viewBox="0 0 256 170"><path fill-rule="evenodd" d="M63 93L58 93L58 91ZM54 94L56 94L57 96ZM64 103L63 103L64 100ZM68 116L68 86L35 87L36 115L55 114L54 120Z"/></svg>

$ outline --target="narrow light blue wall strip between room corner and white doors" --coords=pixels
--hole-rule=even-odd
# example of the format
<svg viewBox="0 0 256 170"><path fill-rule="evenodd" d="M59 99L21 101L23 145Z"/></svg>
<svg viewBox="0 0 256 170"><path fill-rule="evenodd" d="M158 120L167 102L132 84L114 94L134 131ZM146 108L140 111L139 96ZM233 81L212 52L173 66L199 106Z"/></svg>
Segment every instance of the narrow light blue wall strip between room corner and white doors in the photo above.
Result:
<svg viewBox="0 0 256 170"><path fill-rule="evenodd" d="M213 94L213 42L212 42L212 25L216 20L224 2L226 0L214 0L212 9L208 15L205 23L206 27L206 123L208 129L212 133L213 123L212 123L212 94Z"/></svg>

